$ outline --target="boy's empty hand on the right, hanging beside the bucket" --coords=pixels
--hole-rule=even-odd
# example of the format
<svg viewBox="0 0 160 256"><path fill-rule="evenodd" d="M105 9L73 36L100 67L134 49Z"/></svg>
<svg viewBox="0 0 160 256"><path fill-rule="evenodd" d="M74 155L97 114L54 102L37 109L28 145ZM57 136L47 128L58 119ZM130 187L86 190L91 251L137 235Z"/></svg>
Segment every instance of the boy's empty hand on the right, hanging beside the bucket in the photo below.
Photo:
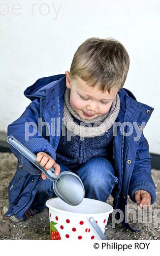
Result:
<svg viewBox="0 0 160 256"><path fill-rule="evenodd" d="M149 192L144 190L137 190L134 192L135 201L142 208L144 205L147 207L151 204L151 195Z"/></svg>

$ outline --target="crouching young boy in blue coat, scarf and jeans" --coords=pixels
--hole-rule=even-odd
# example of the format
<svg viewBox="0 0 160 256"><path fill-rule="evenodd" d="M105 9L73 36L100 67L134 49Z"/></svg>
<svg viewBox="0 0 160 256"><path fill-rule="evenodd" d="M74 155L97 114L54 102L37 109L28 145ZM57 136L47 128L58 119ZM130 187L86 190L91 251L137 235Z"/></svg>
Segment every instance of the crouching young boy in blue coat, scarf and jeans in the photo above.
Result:
<svg viewBox="0 0 160 256"><path fill-rule="evenodd" d="M128 195L142 207L156 199L142 132L154 109L123 89L128 68L129 56L119 41L89 38L75 52L70 72L40 78L25 90L32 102L8 126L8 135L36 154L46 170L53 166L56 175L75 172L85 197L105 202L112 194L114 209L124 213ZM17 171L8 187L9 205L1 212L20 222L56 195L53 182L10 148L18 159Z"/></svg>

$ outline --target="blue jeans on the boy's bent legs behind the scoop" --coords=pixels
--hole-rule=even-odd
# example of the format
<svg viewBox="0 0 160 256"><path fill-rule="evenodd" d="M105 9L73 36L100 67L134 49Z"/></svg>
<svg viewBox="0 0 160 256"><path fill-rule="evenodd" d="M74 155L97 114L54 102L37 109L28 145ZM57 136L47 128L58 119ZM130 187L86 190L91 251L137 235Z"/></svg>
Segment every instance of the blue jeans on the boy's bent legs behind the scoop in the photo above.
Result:
<svg viewBox="0 0 160 256"><path fill-rule="evenodd" d="M61 166L61 172L72 171L61 162L56 161L56 163ZM86 198L105 202L115 187L115 184L118 183L113 165L109 160L102 157L92 158L84 163L77 171L72 172L77 174L82 180ZM53 196L57 197L53 191L53 182L49 179L41 179L31 208L39 210L45 208L45 202Z"/></svg>

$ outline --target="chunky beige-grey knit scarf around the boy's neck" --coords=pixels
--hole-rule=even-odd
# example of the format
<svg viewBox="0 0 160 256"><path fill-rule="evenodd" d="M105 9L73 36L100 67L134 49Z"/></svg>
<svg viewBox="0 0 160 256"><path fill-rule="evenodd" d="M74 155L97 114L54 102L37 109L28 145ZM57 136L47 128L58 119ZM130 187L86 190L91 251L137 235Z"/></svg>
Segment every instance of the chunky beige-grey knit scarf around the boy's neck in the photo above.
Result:
<svg viewBox="0 0 160 256"><path fill-rule="evenodd" d="M95 137L104 134L105 131L112 127L119 114L119 111L120 97L117 94L108 112L94 118L93 120L83 119L70 105L70 89L67 87L65 89L63 125L74 135L79 135L82 137ZM80 126L73 121L71 114L76 119L82 121ZM94 123L94 126L92 126L91 123Z"/></svg>

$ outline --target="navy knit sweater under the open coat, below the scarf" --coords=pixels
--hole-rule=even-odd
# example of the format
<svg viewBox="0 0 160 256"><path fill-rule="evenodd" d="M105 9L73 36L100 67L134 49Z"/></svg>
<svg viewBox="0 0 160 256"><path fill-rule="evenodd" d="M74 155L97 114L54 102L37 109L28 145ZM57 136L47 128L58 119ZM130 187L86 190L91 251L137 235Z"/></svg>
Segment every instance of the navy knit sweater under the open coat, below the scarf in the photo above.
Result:
<svg viewBox="0 0 160 256"><path fill-rule="evenodd" d="M76 119L72 114L71 116L73 121L80 125L82 121ZM104 157L113 161L113 126L101 136L84 137L84 140L80 140L80 136L76 135L71 136L68 141L66 133L65 128L65 136L61 134L56 150L56 160L71 170L78 170L87 160L95 157Z"/></svg>

